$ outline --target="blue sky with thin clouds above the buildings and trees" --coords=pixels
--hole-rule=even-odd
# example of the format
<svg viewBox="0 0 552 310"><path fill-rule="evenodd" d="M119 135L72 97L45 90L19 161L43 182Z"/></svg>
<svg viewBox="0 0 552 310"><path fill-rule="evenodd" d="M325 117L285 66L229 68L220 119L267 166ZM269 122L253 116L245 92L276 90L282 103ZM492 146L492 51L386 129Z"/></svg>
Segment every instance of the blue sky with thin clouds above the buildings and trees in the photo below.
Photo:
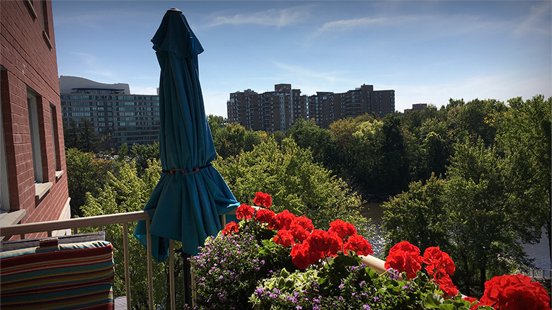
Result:
<svg viewBox="0 0 552 310"><path fill-rule="evenodd" d="M552 94L551 1L53 1L59 75L154 94L151 49L180 8L205 48L207 114L229 93L394 89L396 110Z"/></svg>

